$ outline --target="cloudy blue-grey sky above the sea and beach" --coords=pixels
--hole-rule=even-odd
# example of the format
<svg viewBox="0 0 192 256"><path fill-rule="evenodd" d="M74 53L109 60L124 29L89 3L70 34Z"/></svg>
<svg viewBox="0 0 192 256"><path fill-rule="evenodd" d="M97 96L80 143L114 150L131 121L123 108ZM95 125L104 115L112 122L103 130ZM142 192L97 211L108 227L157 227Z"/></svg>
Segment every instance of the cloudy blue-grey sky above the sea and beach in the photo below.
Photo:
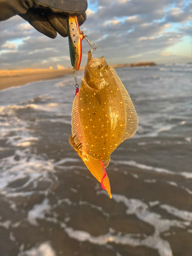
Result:
<svg viewBox="0 0 192 256"><path fill-rule="evenodd" d="M110 65L192 61L192 1L88 0L88 5L80 30L96 42L94 57L104 55ZM48 38L19 16L1 22L0 33L0 69L71 67L68 38ZM83 48L89 50L85 40Z"/></svg>

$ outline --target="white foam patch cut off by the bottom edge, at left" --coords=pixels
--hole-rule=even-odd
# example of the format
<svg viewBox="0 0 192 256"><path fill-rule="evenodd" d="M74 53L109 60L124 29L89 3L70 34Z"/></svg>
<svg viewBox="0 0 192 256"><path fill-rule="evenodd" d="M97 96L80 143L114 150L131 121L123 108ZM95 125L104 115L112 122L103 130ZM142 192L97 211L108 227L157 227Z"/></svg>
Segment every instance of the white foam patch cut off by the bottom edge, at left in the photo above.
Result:
<svg viewBox="0 0 192 256"><path fill-rule="evenodd" d="M56 256L56 252L51 247L50 242L44 242L30 250L20 252L18 256Z"/></svg>

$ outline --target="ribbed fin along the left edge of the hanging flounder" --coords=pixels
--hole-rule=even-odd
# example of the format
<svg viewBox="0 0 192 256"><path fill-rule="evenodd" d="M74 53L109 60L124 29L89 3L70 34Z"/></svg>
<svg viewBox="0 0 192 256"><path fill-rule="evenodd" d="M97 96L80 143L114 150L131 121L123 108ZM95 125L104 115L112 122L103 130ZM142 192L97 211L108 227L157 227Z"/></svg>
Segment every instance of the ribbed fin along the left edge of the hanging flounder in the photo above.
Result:
<svg viewBox="0 0 192 256"><path fill-rule="evenodd" d="M80 155L87 155L87 146L88 142L84 137L84 133L81 127L80 118L79 118L79 93L76 94L73 101L72 108L72 137L69 137L69 143L73 146L74 150Z"/></svg>

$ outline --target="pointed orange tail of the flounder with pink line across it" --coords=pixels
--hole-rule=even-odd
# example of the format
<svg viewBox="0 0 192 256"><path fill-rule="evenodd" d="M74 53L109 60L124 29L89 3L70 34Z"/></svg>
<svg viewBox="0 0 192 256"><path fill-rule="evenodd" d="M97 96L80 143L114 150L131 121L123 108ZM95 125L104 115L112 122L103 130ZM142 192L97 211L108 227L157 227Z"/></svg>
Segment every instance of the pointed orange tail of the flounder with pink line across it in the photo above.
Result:
<svg viewBox="0 0 192 256"><path fill-rule="evenodd" d="M89 159L82 158L82 160L86 164L86 166L88 167L92 175L101 183L102 189L106 189L110 198L112 198L110 181L104 169L103 162L100 161L99 159L94 159L90 156L89 156Z"/></svg>

